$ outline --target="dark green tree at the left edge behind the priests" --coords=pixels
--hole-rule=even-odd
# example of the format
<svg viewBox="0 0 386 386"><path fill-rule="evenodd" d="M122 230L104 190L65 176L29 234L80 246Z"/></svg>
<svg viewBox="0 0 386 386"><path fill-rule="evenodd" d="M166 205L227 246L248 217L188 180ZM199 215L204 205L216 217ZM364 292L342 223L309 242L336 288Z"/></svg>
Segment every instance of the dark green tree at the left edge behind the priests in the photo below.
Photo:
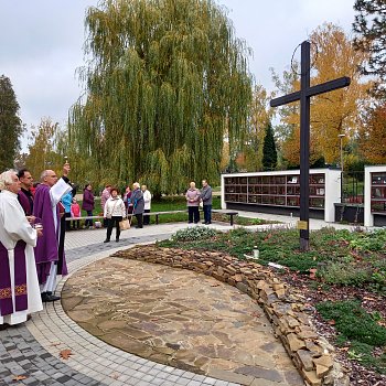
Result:
<svg viewBox="0 0 386 386"><path fill-rule="evenodd" d="M13 162L20 149L20 136L23 126L19 118L19 104L11 81L0 76L0 172L13 168Z"/></svg>

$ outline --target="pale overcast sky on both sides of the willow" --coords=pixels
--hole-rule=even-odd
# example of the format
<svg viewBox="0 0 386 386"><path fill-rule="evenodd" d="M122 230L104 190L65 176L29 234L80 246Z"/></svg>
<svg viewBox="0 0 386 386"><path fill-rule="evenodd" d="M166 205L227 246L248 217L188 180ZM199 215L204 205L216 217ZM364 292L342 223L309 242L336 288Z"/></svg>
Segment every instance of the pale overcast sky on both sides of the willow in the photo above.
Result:
<svg viewBox="0 0 386 386"><path fill-rule="evenodd" d="M294 47L318 25L351 32L354 0L216 0L228 9L236 35L254 51L250 72L274 89L270 67L289 68ZM11 79L23 122L51 117L63 127L81 95L84 18L97 0L0 0L0 75ZM23 141L25 147L25 140Z"/></svg>

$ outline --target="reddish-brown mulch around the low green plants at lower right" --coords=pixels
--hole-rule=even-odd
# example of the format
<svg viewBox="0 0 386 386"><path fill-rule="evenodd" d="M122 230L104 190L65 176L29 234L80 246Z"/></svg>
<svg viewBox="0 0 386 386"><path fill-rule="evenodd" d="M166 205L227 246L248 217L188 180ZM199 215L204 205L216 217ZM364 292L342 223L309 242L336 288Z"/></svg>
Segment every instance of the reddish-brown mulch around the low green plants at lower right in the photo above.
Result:
<svg viewBox="0 0 386 386"><path fill-rule="evenodd" d="M378 311L383 317L383 323L386 326L386 299L385 296L380 296L374 292L369 292L363 288L354 287L337 287L330 286L329 290L323 290L323 286L315 289L310 288L311 279L304 275L297 275L293 272L278 274L278 277L282 281L287 282L291 288L299 291L307 300L308 303L314 305L321 301L342 301L350 299L358 299L362 301L362 307L367 312ZM318 332L324 336L332 345L334 345L334 339L336 336L335 329L323 320L318 311L313 314L313 323L318 329ZM341 364L351 372L351 385L352 386L386 386L386 376L371 371L361 365L360 362L349 360L345 350L337 347L336 357ZM380 353L379 353L380 354Z"/></svg>

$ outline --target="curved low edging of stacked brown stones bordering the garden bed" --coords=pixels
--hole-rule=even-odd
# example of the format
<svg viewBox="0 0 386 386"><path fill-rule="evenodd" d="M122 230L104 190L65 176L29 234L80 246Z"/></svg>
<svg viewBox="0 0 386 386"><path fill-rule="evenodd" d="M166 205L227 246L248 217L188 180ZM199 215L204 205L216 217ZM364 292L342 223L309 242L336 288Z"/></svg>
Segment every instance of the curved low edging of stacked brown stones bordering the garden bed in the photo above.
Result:
<svg viewBox="0 0 386 386"><path fill-rule="evenodd" d="M288 287L264 266L218 251L154 245L120 250L112 256L190 269L238 288L262 307L305 385L350 385L347 375L334 360L334 347L318 334L310 321L313 309L300 296L290 293Z"/></svg>

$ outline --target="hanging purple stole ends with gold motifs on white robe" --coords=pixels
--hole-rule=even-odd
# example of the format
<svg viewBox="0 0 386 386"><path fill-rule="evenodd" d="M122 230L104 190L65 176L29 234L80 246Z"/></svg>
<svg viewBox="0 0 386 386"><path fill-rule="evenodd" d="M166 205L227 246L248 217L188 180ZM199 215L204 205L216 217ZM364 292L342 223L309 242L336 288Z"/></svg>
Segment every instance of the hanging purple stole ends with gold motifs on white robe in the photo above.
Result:
<svg viewBox="0 0 386 386"><path fill-rule="evenodd" d="M14 247L14 310L12 303L11 275L7 248L0 243L0 314L9 315L28 309L25 243Z"/></svg>

